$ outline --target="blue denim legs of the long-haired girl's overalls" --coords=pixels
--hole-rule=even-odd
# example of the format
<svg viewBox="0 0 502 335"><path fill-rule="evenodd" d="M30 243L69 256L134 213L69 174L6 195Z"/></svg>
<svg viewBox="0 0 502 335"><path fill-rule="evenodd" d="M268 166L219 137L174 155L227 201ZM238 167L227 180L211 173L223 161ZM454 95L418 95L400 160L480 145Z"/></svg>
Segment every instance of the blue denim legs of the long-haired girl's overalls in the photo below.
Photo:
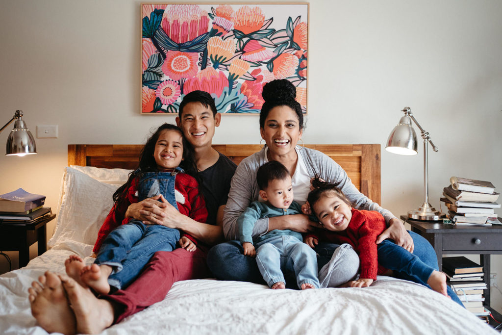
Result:
<svg viewBox="0 0 502 335"><path fill-rule="evenodd" d="M111 266L108 284L121 289L136 279L157 251L173 251L179 239L177 229L132 220L108 234L94 263Z"/></svg>

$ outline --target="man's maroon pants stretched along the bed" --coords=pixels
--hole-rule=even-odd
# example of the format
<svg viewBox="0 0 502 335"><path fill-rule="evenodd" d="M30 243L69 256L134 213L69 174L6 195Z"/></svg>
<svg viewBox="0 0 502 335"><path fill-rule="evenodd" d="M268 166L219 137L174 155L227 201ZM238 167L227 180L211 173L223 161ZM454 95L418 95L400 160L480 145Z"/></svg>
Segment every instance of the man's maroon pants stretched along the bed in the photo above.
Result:
<svg viewBox="0 0 502 335"><path fill-rule="evenodd" d="M194 252L178 248L155 253L129 287L101 297L114 304L114 323L161 301L179 280L212 277L206 264L206 254L207 249L200 244Z"/></svg>

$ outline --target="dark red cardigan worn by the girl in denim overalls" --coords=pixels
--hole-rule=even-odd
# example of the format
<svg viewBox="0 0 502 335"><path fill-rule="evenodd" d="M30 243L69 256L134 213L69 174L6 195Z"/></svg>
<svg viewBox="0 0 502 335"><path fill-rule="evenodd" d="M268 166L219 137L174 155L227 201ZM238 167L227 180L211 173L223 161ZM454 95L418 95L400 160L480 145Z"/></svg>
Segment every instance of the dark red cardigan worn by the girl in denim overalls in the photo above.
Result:
<svg viewBox="0 0 502 335"><path fill-rule="evenodd" d="M101 229L97 234L97 240L94 244L94 249L92 251L97 253L101 244L108 234L119 225L127 224L130 217L124 217L126 211L130 204L138 202L138 179L133 179L131 182L131 187L129 187L127 191L126 201L121 204L119 208L117 208L117 204L114 203L110 212L106 216ZM177 201L178 209L180 213L191 217L193 220L197 222L206 222L207 219L207 209L206 203L202 194L199 194L199 185L194 177L186 174L186 173L178 173L176 175L176 180L174 183L174 188L181 195L183 195L184 203ZM116 215L115 215L116 214ZM181 236L186 236L192 242L197 244L197 241L190 235L182 233Z"/></svg>

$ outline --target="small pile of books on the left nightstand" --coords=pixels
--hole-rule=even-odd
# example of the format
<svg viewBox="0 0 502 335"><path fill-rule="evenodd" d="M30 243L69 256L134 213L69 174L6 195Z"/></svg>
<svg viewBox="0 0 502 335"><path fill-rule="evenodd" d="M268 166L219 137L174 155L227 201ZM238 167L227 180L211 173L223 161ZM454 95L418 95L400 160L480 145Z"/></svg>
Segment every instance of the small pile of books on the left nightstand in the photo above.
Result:
<svg viewBox="0 0 502 335"><path fill-rule="evenodd" d="M32 194L19 188L0 195L0 224L31 224L52 214L43 207L45 195Z"/></svg>

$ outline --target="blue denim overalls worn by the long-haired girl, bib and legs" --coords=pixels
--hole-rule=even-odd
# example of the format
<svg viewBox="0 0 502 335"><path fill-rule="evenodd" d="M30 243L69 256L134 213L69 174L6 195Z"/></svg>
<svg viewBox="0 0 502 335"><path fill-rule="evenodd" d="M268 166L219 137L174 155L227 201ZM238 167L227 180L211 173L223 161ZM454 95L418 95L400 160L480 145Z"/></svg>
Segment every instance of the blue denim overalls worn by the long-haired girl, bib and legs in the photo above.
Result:
<svg viewBox="0 0 502 335"><path fill-rule="evenodd" d="M176 209L174 186L176 174L183 172L177 167L173 172L146 172L138 183L138 200L162 194ZM145 225L132 219L126 225L115 228L103 241L95 264L113 268L108 284L121 289L128 286L140 274L157 251L173 251L180 239L177 229L161 225Z"/></svg>

